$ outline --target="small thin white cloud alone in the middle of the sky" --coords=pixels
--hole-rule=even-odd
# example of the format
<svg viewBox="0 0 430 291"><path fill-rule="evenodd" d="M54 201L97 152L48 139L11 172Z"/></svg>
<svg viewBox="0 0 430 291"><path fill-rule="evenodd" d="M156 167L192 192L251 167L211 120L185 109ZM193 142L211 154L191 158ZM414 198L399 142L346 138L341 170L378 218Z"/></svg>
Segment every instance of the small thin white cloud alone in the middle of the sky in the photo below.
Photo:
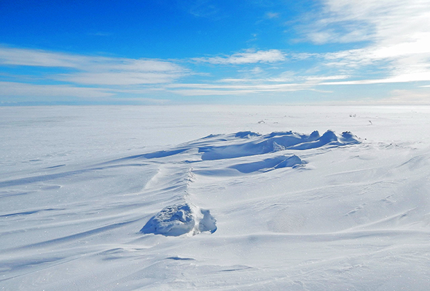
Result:
<svg viewBox="0 0 430 291"><path fill-rule="evenodd" d="M255 64L257 62L282 62L286 59L282 51L270 49L268 51L246 50L243 53L234 53L223 57L193 58L192 60L210 64Z"/></svg>

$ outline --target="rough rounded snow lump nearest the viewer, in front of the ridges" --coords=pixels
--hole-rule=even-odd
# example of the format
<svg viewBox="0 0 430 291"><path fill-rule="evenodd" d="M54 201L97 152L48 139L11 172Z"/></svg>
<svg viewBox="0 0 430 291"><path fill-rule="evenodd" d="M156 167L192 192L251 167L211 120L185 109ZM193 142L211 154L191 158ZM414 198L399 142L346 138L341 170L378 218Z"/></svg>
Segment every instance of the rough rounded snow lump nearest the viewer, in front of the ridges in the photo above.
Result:
<svg viewBox="0 0 430 291"><path fill-rule="evenodd" d="M182 236L185 233L194 236L203 231L214 233L216 220L209 210L200 209L189 203L164 207L140 230L141 233L162 234L163 236Z"/></svg>

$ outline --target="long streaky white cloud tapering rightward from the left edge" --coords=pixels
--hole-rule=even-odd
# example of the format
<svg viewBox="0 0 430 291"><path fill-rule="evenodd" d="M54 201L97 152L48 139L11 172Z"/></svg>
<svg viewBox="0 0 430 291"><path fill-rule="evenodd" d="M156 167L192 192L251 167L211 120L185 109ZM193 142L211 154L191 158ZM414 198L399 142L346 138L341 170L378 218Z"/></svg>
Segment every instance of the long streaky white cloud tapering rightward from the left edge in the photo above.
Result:
<svg viewBox="0 0 430 291"><path fill-rule="evenodd" d="M164 60L106 58L0 46L0 64L73 69L53 80L77 85L150 85L172 82L187 69Z"/></svg>

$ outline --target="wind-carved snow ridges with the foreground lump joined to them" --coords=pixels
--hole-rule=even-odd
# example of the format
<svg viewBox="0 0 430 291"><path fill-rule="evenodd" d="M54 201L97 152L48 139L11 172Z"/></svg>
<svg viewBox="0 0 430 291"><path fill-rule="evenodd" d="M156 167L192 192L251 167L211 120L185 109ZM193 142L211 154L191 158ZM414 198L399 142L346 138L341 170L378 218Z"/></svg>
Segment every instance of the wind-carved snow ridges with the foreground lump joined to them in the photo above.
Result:
<svg viewBox="0 0 430 291"><path fill-rule="evenodd" d="M211 134L203 139L192 141L173 148L159 152L148 153L139 157L146 159L162 159L173 156L185 163L200 162L207 164L204 170L196 170L200 175L247 175L251 173L264 173L279 168L297 168L304 166L307 161L302 160L298 155L275 155L284 150L309 150L321 148L323 146L335 147L342 145L352 145L361 141L350 132L343 132L338 135L332 130L327 130L320 136L318 131L311 134L298 134L297 132L273 132L261 135L255 132L237 132L235 134ZM196 158L200 155L201 159ZM270 157L255 161L243 160L246 157L257 156ZM181 158L183 156L183 158ZM191 159L190 159L191 156ZM135 157L133 157L135 158ZM188 159L187 159L188 158ZM176 158L175 158L176 159ZM225 160L230 166L216 168L212 163ZM229 161L231 160L231 161ZM181 166L177 166L177 171ZM178 172L177 172L178 173ZM165 173L166 177L171 174ZM159 182L162 177L157 177L151 181ZM200 209L199 206L187 202L189 197L189 186L196 181L193 168L184 170L184 177L175 182L182 189L182 202L164 207L161 211L153 215L140 230L141 233L162 234L164 236L193 236L203 231L214 233L216 231L216 219L207 209ZM172 183L169 183L172 184ZM154 185L153 185L154 186Z"/></svg>

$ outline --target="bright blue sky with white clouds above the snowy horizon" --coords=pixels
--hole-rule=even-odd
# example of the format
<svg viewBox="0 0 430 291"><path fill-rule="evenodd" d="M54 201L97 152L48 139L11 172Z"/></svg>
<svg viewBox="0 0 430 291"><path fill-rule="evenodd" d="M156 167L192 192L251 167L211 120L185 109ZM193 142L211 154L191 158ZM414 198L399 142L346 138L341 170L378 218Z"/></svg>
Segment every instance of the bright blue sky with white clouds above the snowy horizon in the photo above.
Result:
<svg viewBox="0 0 430 291"><path fill-rule="evenodd" d="M0 1L0 105L428 104L430 1Z"/></svg>

